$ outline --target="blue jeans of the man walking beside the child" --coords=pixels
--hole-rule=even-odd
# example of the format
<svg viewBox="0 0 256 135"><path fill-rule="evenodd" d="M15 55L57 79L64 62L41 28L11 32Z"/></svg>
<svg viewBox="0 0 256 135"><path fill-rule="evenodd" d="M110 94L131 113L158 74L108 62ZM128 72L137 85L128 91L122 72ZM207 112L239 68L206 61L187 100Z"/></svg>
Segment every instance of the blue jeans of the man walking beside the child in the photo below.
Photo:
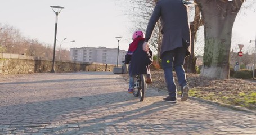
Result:
<svg viewBox="0 0 256 135"><path fill-rule="evenodd" d="M186 73L183 68L186 49L183 47L176 48L172 51L165 52L162 57L162 67L164 69L165 82L170 97L177 97L177 88L173 78L173 68L176 71L179 86L188 85Z"/></svg>

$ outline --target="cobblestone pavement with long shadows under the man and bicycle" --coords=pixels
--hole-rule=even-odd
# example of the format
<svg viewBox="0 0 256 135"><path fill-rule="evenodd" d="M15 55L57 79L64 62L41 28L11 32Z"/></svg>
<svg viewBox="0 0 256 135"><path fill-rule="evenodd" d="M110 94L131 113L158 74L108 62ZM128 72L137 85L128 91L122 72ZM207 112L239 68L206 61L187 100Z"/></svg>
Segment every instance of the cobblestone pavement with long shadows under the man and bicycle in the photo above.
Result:
<svg viewBox="0 0 256 135"><path fill-rule="evenodd" d="M256 116L188 99L143 102L113 73L39 73L0 78L0 134L256 134Z"/></svg>

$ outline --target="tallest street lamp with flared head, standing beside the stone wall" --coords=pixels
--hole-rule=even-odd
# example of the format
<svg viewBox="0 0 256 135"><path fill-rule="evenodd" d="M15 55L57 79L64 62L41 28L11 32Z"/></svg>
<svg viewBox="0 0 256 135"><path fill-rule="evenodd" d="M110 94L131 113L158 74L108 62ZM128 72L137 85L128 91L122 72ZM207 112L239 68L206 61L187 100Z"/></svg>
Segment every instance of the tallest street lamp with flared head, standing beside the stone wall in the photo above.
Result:
<svg viewBox="0 0 256 135"><path fill-rule="evenodd" d="M53 60L52 60L52 71L51 73L55 73L54 70L54 60L55 60L55 47L56 47L56 35L57 35L57 24L58 24L58 15L60 13L60 11L62 9L64 9L64 7L60 7L60 6L50 6L53 10L53 8L56 8L57 11L53 10L53 12L55 13L55 33L54 33L54 47L53 47Z"/></svg>

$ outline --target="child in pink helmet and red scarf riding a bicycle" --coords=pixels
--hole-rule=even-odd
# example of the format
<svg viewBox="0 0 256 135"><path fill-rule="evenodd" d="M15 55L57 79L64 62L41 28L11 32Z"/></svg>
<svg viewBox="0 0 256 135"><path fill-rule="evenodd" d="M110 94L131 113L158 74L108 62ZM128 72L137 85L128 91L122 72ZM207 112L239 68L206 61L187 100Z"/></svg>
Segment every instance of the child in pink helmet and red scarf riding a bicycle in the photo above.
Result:
<svg viewBox="0 0 256 135"><path fill-rule="evenodd" d="M134 78L138 74L147 74L146 83L151 84L151 74L149 66L152 64L152 51L143 51L143 43L145 41L142 31L135 31L132 35L133 42L129 44L129 49L125 55L125 64L129 64L129 89L128 93L134 91Z"/></svg>

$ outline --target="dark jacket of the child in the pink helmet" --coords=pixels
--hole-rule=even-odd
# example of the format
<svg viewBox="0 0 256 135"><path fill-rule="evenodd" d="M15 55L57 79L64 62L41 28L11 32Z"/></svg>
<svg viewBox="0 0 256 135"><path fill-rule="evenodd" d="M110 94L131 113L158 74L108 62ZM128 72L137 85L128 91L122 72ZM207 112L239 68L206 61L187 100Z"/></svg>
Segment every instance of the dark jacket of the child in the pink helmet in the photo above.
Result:
<svg viewBox="0 0 256 135"><path fill-rule="evenodd" d="M131 77L138 74L150 74L149 66L153 61L152 51L143 51L143 43L144 38L138 42L137 48L132 55L128 53L125 55L125 64L129 64L131 61L129 66L129 76Z"/></svg>

